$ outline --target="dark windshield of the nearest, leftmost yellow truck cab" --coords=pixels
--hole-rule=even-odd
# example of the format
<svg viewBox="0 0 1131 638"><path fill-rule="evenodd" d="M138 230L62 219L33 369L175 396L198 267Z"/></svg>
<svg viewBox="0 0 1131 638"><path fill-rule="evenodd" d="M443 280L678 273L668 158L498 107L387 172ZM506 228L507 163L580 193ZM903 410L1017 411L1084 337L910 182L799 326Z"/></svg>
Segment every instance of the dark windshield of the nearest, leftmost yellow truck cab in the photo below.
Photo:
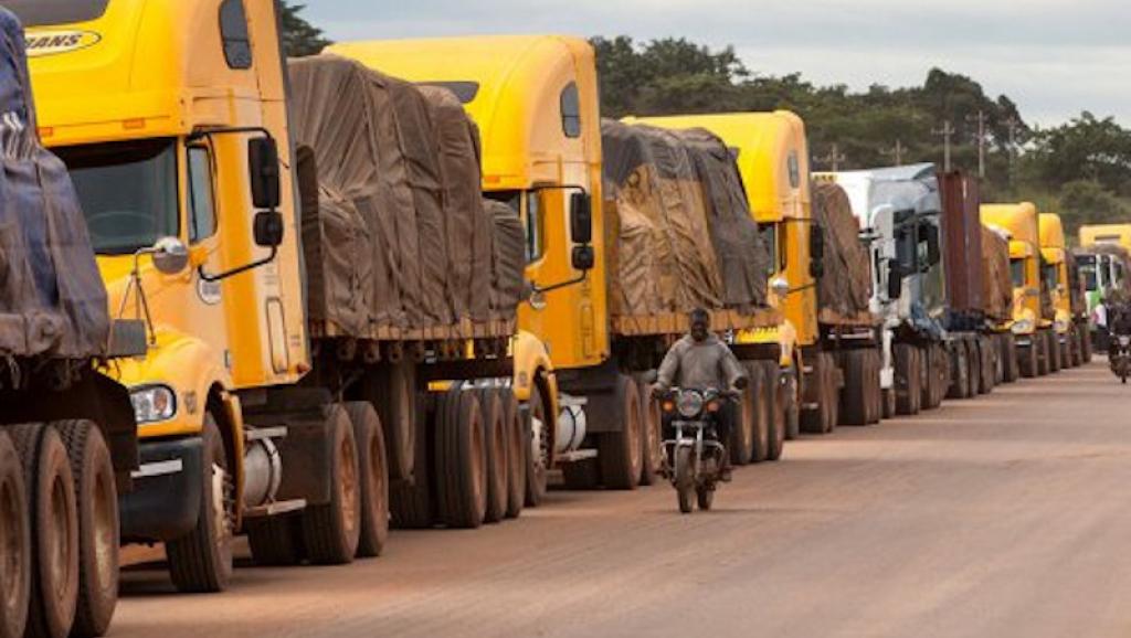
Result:
<svg viewBox="0 0 1131 638"><path fill-rule="evenodd" d="M130 255L178 224L176 144L121 141L53 149L78 191L98 255Z"/></svg>

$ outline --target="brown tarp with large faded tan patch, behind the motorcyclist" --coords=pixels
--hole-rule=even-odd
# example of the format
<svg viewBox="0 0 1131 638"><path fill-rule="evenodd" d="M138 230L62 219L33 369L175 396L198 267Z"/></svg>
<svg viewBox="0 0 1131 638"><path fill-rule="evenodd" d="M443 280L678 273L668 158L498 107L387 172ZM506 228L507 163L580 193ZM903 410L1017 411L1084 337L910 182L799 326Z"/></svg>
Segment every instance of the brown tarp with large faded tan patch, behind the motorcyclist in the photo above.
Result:
<svg viewBox="0 0 1131 638"><path fill-rule="evenodd" d="M722 141L605 120L602 148L614 316L765 303L768 257Z"/></svg>

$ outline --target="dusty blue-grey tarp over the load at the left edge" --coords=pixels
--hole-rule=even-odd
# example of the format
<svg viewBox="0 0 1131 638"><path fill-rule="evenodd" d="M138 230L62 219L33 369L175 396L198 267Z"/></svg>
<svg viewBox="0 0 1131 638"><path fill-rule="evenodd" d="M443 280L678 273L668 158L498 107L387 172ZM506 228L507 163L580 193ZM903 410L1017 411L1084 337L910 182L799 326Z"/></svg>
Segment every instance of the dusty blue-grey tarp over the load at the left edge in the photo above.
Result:
<svg viewBox="0 0 1131 638"><path fill-rule="evenodd" d="M24 29L0 9L0 355L105 354L106 290L67 167L40 143Z"/></svg>

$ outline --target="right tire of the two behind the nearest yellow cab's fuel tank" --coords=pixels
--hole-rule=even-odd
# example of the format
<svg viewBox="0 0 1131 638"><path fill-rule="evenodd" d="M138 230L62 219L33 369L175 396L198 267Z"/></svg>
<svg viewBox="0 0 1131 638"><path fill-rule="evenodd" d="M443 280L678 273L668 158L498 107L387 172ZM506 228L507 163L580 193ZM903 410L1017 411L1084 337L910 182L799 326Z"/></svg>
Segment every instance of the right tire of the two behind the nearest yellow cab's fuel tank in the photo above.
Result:
<svg viewBox="0 0 1131 638"><path fill-rule="evenodd" d="M344 404L357 442L357 476L361 484L361 535L357 558L381 555L389 538L389 465L381 419L373 404Z"/></svg>

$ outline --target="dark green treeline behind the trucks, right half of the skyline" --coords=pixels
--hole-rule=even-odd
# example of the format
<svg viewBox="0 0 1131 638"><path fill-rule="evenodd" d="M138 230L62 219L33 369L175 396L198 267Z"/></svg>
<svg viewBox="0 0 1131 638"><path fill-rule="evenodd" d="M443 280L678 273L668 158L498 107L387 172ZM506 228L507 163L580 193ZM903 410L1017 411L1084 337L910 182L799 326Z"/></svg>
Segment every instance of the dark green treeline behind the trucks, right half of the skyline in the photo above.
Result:
<svg viewBox="0 0 1131 638"><path fill-rule="evenodd" d="M800 74L753 72L733 48L683 38L594 37L606 117L787 109L805 119L818 170L915 162L942 164L949 131L956 167L978 170L986 199L1034 199L1070 231L1081 223L1131 222L1131 131L1083 112L1054 128L1025 121L1009 97L974 79L931 69L922 86L815 86Z"/></svg>

